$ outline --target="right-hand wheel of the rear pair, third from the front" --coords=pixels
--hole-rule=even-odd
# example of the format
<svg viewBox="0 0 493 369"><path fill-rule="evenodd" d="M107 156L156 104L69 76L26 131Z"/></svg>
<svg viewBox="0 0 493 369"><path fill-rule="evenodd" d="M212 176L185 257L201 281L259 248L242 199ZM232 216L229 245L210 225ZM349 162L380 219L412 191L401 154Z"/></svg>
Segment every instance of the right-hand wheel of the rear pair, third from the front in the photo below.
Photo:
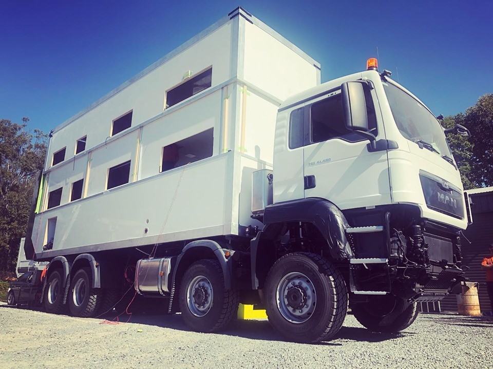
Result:
<svg viewBox="0 0 493 369"><path fill-rule="evenodd" d="M101 288L92 288L92 273L89 268L77 270L72 278L68 294L68 307L74 317L93 317L103 301Z"/></svg>

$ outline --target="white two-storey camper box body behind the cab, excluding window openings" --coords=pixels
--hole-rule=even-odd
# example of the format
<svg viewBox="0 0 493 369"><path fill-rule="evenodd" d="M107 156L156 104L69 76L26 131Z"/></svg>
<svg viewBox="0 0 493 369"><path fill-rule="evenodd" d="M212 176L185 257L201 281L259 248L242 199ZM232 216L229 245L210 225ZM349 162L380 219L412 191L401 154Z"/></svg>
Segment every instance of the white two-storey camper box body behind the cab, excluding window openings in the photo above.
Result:
<svg viewBox="0 0 493 369"><path fill-rule="evenodd" d="M275 31L242 15L223 18L54 130L44 207L32 235L39 257L238 235L240 226L261 226L250 218L252 172L272 168L282 99L316 85L319 69ZM210 88L163 111L165 92L185 72L211 66ZM110 137L112 121L128 111L131 127ZM188 147L206 140L210 149L212 138L212 157L161 172L164 146L204 131ZM86 150L73 162L84 135ZM65 161L50 167L53 152L65 146ZM128 183L107 190L108 169L129 160ZM71 203L70 186L82 178L83 198ZM60 206L46 209L48 193L60 187ZM53 249L42 251L52 237Z"/></svg>

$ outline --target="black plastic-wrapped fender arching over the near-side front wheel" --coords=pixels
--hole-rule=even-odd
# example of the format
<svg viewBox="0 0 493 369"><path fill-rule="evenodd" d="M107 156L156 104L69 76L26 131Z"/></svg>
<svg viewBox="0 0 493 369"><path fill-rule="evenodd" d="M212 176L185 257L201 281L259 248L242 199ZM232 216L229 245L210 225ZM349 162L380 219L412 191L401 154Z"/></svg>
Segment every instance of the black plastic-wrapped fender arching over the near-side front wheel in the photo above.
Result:
<svg viewBox="0 0 493 369"><path fill-rule="evenodd" d="M259 287L258 271L262 267L270 267L266 260L272 258L275 252L273 247L266 246L282 236L280 233L289 222L312 223L327 241L332 259L347 260L354 257L346 238L346 228L350 225L335 204L325 199L309 198L269 205L263 213L264 227L251 241L250 246L254 289ZM260 253L265 257L259 258ZM267 274L267 271L263 270L262 273Z"/></svg>

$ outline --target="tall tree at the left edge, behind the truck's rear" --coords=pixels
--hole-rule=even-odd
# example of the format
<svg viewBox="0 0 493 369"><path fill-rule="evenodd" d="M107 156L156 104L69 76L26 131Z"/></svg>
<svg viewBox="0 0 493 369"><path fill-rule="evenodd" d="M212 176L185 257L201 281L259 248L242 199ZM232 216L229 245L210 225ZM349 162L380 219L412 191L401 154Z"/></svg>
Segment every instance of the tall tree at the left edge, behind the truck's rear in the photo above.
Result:
<svg viewBox="0 0 493 369"><path fill-rule="evenodd" d="M46 154L46 134L0 120L0 270L12 270L29 218L35 174Z"/></svg>

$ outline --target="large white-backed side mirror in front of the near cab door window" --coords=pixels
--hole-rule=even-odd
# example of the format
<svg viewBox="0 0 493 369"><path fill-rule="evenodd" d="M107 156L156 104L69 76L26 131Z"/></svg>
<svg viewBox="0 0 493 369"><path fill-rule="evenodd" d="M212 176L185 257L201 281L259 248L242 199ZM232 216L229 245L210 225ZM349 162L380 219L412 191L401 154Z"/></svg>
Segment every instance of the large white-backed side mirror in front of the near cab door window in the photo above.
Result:
<svg viewBox="0 0 493 369"><path fill-rule="evenodd" d="M359 133L373 142L375 136L370 133L368 126L364 85L365 82L346 82L340 86L343 115L347 129Z"/></svg>

